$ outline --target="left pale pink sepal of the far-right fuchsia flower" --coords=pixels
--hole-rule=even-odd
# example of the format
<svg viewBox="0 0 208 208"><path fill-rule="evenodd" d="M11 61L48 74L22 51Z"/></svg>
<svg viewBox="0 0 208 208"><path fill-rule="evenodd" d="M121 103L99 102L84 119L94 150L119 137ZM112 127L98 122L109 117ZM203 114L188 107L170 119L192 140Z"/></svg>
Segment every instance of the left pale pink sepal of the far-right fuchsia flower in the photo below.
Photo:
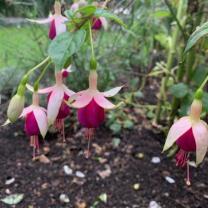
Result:
<svg viewBox="0 0 208 208"><path fill-rule="evenodd" d="M168 136L165 141L163 151L166 151L167 149L169 149L180 136L182 136L191 128L191 126L192 124L191 124L191 120L189 116L182 117L181 119L176 121L171 126L168 132Z"/></svg>

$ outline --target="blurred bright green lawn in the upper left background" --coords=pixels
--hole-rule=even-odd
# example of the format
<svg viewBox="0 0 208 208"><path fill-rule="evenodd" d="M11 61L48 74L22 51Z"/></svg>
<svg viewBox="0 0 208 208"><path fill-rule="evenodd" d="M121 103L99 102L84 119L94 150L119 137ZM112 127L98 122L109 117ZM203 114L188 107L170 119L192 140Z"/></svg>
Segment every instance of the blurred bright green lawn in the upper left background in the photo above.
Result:
<svg viewBox="0 0 208 208"><path fill-rule="evenodd" d="M45 28L0 27L0 69L22 67L44 56L48 44Z"/></svg>

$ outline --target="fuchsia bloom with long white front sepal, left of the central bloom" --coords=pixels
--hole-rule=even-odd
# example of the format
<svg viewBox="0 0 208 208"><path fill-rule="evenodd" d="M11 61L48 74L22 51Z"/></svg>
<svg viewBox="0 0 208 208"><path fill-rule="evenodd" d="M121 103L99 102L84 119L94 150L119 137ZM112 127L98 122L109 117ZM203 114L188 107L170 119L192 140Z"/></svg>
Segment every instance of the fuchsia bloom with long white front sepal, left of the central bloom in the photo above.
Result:
<svg viewBox="0 0 208 208"><path fill-rule="evenodd" d="M55 127L61 132L63 141L65 141L64 133L64 119L70 114L70 108L66 101L74 94L63 83L63 78L68 76L70 69L64 69L57 72L55 75L56 84L54 86L38 90L39 94L48 94L47 101L47 117L48 124L54 124ZM28 89L33 88L27 85Z"/></svg>

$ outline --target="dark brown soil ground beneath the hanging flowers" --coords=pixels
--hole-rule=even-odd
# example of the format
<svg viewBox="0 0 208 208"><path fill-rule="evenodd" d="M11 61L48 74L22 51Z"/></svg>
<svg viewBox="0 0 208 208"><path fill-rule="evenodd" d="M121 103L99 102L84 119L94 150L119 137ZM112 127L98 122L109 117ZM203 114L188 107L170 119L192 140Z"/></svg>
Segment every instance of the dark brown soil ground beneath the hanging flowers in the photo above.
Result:
<svg viewBox="0 0 208 208"><path fill-rule="evenodd" d="M91 207L99 201L100 194L106 193L107 203L99 202L96 208L148 208L152 200L163 208L208 207L208 160L205 159L198 169L191 168L192 186L187 187L185 170L178 169L174 159L161 154L164 137L142 126L122 132L118 148L112 146L111 133L101 128L96 133L93 153L88 160L83 156L86 140L81 130L75 136L67 133L66 144L50 135L46 141L50 148L49 164L31 160L29 140L22 131L22 122L1 128L0 198L7 196L9 191L24 194L17 208L84 208ZM144 157L139 159L138 153L143 153ZM153 156L160 157L161 162L151 163ZM99 162L98 158L102 160ZM75 174L67 176L64 165L72 168L74 173L77 170L83 172L85 178ZM98 171L106 167L110 167L111 174L102 179ZM175 180L174 184L165 180L167 175ZM10 177L14 177L15 182L5 185ZM136 183L140 184L139 190L133 188ZM68 195L70 203L60 202L62 193ZM83 206L76 206L79 201ZM0 207L9 206L0 202Z"/></svg>

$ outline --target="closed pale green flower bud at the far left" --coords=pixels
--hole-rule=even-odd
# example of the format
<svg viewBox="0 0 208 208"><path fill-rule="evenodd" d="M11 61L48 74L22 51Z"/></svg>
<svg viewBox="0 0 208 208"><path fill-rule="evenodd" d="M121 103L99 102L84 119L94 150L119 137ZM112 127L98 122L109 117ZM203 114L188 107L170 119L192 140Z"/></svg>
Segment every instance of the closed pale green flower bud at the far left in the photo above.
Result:
<svg viewBox="0 0 208 208"><path fill-rule="evenodd" d="M15 122L21 115L25 104L24 96L16 94L12 97L7 109L7 117L11 122Z"/></svg>

